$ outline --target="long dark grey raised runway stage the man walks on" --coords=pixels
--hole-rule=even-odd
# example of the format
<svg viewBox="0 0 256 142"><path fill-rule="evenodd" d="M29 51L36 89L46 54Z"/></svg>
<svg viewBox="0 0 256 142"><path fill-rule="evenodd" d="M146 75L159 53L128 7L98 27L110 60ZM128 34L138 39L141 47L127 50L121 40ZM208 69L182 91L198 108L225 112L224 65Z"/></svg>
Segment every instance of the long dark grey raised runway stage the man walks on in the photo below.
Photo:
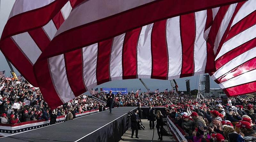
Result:
<svg viewBox="0 0 256 142"><path fill-rule="evenodd" d="M109 113L108 110L94 113L43 128L0 138L0 141L15 142L49 142L49 141L88 141L88 142L115 142L130 127L128 111L137 107L119 107Z"/></svg>

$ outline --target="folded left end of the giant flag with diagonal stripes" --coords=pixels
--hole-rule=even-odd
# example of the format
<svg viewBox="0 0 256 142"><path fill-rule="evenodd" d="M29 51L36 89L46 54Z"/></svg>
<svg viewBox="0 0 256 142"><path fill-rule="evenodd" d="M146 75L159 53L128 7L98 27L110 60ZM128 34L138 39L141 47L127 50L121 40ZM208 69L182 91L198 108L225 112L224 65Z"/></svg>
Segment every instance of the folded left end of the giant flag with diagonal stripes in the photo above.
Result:
<svg viewBox="0 0 256 142"><path fill-rule="evenodd" d="M1 37L1 50L31 84L36 60L68 18L76 0L17 0ZM17 26L19 25L19 26ZM15 58L19 57L19 60Z"/></svg>

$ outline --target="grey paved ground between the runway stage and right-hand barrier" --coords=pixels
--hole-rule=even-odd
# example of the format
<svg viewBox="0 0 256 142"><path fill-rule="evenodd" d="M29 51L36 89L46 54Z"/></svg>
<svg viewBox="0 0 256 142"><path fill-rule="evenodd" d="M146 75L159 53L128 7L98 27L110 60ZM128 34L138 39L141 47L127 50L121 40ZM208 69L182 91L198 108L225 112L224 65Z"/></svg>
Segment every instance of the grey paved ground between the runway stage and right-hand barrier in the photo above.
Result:
<svg viewBox="0 0 256 142"><path fill-rule="evenodd" d="M132 130L131 128L129 128L129 130L127 130L124 135L122 136L123 140L120 140L119 142L156 142L160 140L157 140L158 135L157 135L157 131L155 128L154 131L154 138L153 141L152 140L152 136L153 136L153 130L149 129L149 121L147 121L147 119L141 119L143 125L146 127L145 130L139 130L139 134L138 134L138 138L135 138L135 132L134 132L134 136L133 138L131 138L132 136ZM164 126L165 130L167 129L167 126ZM163 136L163 140L161 142L170 142L170 141L176 141L173 137L168 137L168 136Z"/></svg>

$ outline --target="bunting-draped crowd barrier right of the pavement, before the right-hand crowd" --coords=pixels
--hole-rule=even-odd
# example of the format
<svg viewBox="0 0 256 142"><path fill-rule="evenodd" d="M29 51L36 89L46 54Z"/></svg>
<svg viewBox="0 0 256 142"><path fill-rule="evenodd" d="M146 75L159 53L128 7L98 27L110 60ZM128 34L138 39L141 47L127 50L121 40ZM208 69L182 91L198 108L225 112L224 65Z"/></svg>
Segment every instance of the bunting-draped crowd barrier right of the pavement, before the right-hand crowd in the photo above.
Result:
<svg viewBox="0 0 256 142"><path fill-rule="evenodd" d="M170 116L167 117L167 123L169 126L170 131L172 131L173 136L175 137L175 139L179 142L181 142L182 140L188 142L188 140L184 137L185 132L177 125L175 125Z"/></svg>

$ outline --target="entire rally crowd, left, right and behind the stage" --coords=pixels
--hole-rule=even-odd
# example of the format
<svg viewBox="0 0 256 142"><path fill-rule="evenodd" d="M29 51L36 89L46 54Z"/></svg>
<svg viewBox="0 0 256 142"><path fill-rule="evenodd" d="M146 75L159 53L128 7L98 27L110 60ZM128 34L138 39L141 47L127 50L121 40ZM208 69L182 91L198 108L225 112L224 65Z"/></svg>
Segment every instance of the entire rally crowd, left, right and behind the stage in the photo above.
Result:
<svg viewBox="0 0 256 142"><path fill-rule="evenodd" d="M76 118L76 113L97 108L104 111L106 106L104 102L81 94L51 110L39 88L31 86L26 80L0 78L0 90L1 123L15 124L51 118L50 123L53 124L56 123L57 116L67 115L65 119L68 121ZM106 102L111 97L103 92L94 96ZM223 104L220 101L221 98L196 100L196 98L172 92L129 92L128 94L117 93L112 97L113 107L164 106L166 114L186 133L185 138L194 142L233 142L244 141L243 137L246 136L256 137L256 127L253 125L256 122L255 98L232 97L229 98L231 102ZM20 104L20 106L14 107L14 104ZM140 107L138 111L136 110L133 121L140 122L138 120L141 118ZM149 112L150 110L151 108ZM156 114L159 119L160 113ZM151 127L152 125L154 126L151 124ZM159 126L157 127L159 129ZM162 138L159 136L159 139Z"/></svg>

